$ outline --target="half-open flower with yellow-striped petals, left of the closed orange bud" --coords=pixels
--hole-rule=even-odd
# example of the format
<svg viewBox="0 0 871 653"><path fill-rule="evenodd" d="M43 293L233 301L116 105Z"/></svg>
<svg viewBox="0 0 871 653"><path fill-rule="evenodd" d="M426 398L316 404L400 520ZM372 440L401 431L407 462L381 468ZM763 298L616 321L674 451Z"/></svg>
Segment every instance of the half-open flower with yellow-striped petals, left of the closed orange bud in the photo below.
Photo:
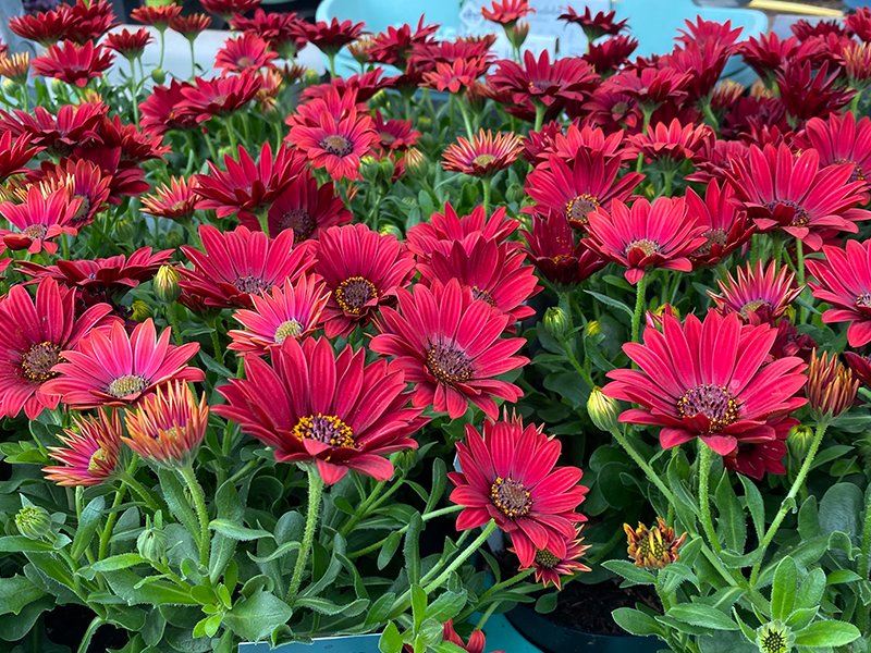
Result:
<svg viewBox="0 0 871 653"><path fill-rule="evenodd" d="M46 480L62 486L98 485L118 466L121 417L118 410L99 410L94 417L73 416L74 429L58 435L63 446L48 447L58 465L44 467Z"/></svg>

